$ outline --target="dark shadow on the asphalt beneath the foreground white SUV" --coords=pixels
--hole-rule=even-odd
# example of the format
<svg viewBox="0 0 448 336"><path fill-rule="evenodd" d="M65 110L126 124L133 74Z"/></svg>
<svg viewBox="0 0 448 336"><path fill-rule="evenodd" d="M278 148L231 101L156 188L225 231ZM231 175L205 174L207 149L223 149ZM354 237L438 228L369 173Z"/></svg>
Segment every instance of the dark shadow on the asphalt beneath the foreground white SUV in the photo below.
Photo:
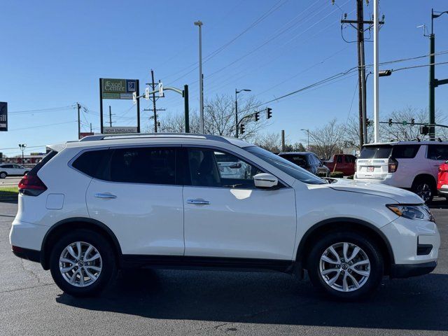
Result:
<svg viewBox="0 0 448 336"><path fill-rule="evenodd" d="M288 274L140 269L120 276L99 297L63 293L56 301L147 318L448 330L447 286L447 274L385 278L369 300L339 302Z"/></svg>

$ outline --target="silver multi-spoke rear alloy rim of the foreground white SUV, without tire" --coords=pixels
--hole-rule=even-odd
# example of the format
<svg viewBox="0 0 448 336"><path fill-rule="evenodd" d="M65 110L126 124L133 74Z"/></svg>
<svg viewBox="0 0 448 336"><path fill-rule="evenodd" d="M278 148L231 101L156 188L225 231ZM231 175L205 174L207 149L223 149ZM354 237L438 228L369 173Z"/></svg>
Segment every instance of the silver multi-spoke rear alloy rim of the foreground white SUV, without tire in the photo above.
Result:
<svg viewBox="0 0 448 336"><path fill-rule="evenodd" d="M59 257L62 277L76 287L90 286L102 272L102 257L97 248L85 241L66 246Z"/></svg>

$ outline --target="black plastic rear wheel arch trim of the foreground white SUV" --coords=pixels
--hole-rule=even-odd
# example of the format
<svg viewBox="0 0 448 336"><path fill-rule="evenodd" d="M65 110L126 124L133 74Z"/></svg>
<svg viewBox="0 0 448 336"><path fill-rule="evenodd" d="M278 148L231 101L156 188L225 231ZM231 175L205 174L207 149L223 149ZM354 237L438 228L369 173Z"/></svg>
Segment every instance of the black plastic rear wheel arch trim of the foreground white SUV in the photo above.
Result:
<svg viewBox="0 0 448 336"><path fill-rule="evenodd" d="M109 227L107 227L107 225L105 225L104 223L97 221L95 219L85 217L73 217L73 218L66 218L62 221L55 223L55 225L52 225L50 230L48 230L48 232L45 234L45 237L43 237L41 246L41 265L43 269L50 269L49 265L50 252L51 252L51 246L55 242L55 239L57 239L57 237L60 237L60 235L64 234L64 232L76 229L92 230L98 232L101 235L104 235L104 237L114 247L118 260L118 266L121 267L123 261L123 253L121 251L120 243L118 242L118 239L116 235L112 232L112 230Z"/></svg>

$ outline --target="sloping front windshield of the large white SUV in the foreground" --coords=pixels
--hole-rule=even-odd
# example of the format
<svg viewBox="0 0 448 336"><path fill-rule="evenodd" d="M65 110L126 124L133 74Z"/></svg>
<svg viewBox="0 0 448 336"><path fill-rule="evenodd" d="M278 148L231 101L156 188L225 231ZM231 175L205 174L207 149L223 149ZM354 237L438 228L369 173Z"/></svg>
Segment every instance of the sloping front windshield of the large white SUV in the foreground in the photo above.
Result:
<svg viewBox="0 0 448 336"><path fill-rule="evenodd" d="M252 153L253 155L258 156L258 158L265 160L267 163L273 165L274 167L280 169L282 172L293 176L294 179L302 181L303 183L308 184L326 184L325 180L319 179L316 175L311 174L307 170L300 168L297 165L285 160L279 155L275 155L265 149L262 149L257 146L245 147L244 150Z"/></svg>

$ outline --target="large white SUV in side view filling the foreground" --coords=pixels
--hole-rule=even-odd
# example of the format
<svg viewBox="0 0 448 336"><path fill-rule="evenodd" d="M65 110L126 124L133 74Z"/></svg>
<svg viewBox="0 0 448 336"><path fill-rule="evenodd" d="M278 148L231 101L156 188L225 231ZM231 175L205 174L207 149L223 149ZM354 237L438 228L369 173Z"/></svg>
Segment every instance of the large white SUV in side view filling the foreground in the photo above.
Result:
<svg viewBox="0 0 448 336"><path fill-rule="evenodd" d="M407 190L319 179L211 135L101 135L52 148L20 182L10 244L71 295L99 293L125 267L227 267L306 269L351 300L384 274L437 265L437 226ZM246 168L223 175L220 155Z"/></svg>

